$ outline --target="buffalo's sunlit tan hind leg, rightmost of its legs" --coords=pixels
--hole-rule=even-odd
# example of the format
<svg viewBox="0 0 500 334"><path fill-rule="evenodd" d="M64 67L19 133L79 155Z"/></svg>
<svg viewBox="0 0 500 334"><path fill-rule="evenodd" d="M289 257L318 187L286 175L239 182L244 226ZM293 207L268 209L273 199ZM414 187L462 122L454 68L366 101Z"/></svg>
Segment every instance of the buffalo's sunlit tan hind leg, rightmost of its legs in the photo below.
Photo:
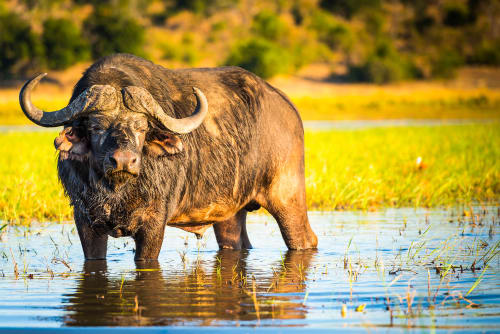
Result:
<svg viewBox="0 0 500 334"><path fill-rule="evenodd" d="M264 195L263 206L276 219L288 249L316 248L318 237L307 217L303 167L285 170Z"/></svg>

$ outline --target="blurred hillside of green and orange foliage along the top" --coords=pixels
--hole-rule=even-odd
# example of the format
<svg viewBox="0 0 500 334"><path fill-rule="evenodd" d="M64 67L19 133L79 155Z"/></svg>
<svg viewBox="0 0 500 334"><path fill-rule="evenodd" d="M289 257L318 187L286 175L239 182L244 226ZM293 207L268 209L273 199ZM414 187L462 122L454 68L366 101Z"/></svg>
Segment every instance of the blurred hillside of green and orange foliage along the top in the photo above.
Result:
<svg viewBox="0 0 500 334"><path fill-rule="evenodd" d="M0 77L115 52L270 78L311 63L341 81L448 78L500 65L498 0L3 0Z"/></svg>

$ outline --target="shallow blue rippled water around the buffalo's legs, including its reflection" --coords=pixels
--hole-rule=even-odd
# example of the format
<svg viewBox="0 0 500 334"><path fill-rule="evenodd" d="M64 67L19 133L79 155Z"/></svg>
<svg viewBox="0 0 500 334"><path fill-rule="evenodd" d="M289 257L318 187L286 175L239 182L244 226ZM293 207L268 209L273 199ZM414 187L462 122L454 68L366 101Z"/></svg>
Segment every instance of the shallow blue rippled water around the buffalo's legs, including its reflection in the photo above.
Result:
<svg viewBox="0 0 500 334"><path fill-rule="evenodd" d="M495 331L500 208L465 210L311 212L319 248L304 252L266 215L249 216L249 251L167 228L159 261L137 264L129 238L85 263L72 224L7 227L0 327Z"/></svg>

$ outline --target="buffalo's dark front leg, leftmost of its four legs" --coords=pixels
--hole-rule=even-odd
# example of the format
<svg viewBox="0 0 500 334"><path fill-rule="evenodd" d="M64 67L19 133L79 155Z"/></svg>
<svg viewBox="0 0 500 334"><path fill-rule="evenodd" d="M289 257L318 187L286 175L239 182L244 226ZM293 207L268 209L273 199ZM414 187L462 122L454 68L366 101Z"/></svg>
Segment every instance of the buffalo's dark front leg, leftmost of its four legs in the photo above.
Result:
<svg viewBox="0 0 500 334"><path fill-rule="evenodd" d="M108 249L108 235L100 234L90 227L88 217L74 210L76 229L83 248L85 260L104 260Z"/></svg>

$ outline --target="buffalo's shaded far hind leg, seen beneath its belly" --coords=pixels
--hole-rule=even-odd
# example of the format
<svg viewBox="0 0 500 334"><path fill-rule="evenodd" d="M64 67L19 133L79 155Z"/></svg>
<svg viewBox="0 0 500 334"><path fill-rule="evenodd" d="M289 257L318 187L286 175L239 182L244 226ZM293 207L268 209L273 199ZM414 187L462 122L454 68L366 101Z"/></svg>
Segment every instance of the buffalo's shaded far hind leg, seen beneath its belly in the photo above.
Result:
<svg viewBox="0 0 500 334"><path fill-rule="evenodd" d="M250 249L252 244L247 234L247 210L238 213L223 222L214 224L215 238L220 249Z"/></svg>

